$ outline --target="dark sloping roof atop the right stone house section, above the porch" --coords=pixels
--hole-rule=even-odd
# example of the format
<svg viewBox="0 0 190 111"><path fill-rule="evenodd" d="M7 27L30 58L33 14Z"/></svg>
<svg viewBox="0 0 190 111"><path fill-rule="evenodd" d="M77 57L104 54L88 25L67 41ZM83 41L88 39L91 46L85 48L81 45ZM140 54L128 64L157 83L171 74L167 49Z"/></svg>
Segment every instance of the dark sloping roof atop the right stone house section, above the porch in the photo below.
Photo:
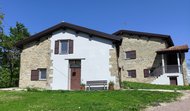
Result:
<svg viewBox="0 0 190 111"><path fill-rule="evenodd" d="M170 35L147 33L147 32L138 32L138 31L131 31L131 30L119 30L119 31L113 33L113 35L122 35L122 34L147 36L147 37L152 37L152 38L160 38L160 39L166 40L170 46L174 45Z"/></svg>

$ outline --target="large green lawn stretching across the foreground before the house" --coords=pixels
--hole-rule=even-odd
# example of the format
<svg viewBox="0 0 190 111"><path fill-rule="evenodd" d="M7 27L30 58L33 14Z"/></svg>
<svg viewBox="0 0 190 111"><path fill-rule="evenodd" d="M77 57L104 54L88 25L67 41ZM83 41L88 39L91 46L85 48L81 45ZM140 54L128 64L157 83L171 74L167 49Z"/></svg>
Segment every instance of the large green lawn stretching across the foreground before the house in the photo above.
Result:
<svg viewBox="0 0 190 111"><path fill-rule="evenodd" d="M1 111L139 111L180 93L149 91L0 91Z"/></svg>

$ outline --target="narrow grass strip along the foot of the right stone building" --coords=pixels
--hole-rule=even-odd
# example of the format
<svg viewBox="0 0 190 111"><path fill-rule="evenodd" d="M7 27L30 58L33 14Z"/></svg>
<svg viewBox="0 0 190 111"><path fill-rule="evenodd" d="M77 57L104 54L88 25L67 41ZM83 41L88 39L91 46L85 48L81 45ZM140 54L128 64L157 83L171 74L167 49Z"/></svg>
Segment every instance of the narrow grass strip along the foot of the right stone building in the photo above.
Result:
<svg viewBox="0 0 190 111"><path fill-rule="evenodd" d="M174 85L155 85L138 82L123 82L124 88L130 89L167 89L167 90L190 90L190 86L174 86Z"/></svg>

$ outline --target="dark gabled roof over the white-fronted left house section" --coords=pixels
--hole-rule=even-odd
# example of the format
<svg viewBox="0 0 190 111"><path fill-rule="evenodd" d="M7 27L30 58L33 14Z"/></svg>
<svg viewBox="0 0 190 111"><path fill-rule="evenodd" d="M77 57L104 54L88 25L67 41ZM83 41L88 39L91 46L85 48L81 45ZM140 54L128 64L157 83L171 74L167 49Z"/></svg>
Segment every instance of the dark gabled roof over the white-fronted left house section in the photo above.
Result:
<svg viewBox="0 0 190 111"><path fill-rule="evenodd" d="M34 34L34 35L30 36L27 39L19 41L16 44L16 46L21 48L23 45L25 45L27 43L39 40L41 37L44 37L44 36L49 35L49 34L52 34L54 31L57 31L59 29L66 29L66 28L75 30L76 32L87 33L90 36L98 36L98 37L113 40L113 41L120 41L121 40L121 37L117 37L115 35L107 34L107 33L104 33L104 32L96 31L96 30L93 30L93 29L89 29L89 28L86 28L86 27L74 25L74 24L67 23L67 22L61 22L61 23L59 23L59 24L57 24L55 26L52 26L52 27L44 30L44 31L41 31L41 32L39 32L37 34Z"/></svg>

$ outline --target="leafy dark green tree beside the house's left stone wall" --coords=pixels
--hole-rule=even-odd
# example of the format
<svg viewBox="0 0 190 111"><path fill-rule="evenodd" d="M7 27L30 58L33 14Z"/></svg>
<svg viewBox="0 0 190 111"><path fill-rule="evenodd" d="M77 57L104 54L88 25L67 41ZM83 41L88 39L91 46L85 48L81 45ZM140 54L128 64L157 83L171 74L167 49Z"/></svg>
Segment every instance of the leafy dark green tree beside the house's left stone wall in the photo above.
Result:
<svg viewBox="0 0 190 111"><path fill-rule="evenodd" d="M10 28L10 34L1 37L0 47L2 47L2 65L1 71L7 73L9 83L5 85L18 86L19 69L20 69L20 50L15 47L15 44L30 36L27 28L17 22L15 27ZM6 76L7 78L7 76ZM3 80L2 80L3 81Z"/></svg>

